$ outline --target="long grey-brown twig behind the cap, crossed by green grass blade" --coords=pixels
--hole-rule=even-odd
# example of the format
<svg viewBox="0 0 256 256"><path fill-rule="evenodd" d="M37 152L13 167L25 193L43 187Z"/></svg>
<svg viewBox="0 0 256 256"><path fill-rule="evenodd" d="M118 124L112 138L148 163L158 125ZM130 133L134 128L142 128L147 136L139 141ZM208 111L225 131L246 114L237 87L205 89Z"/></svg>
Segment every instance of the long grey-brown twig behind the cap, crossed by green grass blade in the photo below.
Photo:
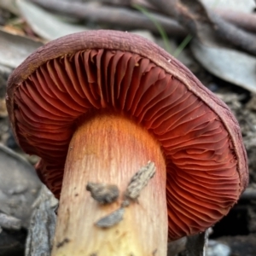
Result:
<svg viewBox="0 0 256 256"><path fill-rule="evenodd" d="M115 6L103 5L101 3L70 3L58 0L32 0L45 9L49 9L62 15L68 15L81 20L91 20L97 23L108 24L112 26L122 26L125 28L135 29L143 28L152 32L158 32L157 27L148 20L148 17L140 12L119 8ZM177 21L172 20L164 15L151 13L156 20L165 29L165 31L174 36L184 36L187 32Z"/></svg>

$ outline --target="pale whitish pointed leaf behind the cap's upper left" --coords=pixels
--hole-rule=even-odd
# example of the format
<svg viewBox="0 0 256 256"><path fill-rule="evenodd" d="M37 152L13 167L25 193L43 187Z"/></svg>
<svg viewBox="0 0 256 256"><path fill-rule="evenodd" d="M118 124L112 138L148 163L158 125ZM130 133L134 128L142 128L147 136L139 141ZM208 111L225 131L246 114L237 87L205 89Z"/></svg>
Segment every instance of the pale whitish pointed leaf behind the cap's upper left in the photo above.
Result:
<svg viewBox="0 0 256 256"><path fill-rule="evenodd" d="M40 37L46 40L61 38L74 32L87 31L85 26L69 24L46 10L25 0L17 1L21 15Z"/></svg>

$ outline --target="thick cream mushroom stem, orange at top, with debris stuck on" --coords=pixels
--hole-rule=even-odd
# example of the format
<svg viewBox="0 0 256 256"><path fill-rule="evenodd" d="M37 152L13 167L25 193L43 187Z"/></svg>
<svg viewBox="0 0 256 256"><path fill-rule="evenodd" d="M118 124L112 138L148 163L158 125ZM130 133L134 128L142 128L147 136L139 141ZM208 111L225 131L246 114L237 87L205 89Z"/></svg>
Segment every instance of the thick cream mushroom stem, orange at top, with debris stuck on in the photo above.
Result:
<svg viewBox="0 0 256 256"><path fill-rule="evenodd" d="M123 219L110 228L96 222L119 209L131 177L153 161L154 177ZM118 186L111 204L95 201L88 182ZM123 116L98 114L79 125L69 145L52 256L166 255L166 163L160 144Z"/></svg>

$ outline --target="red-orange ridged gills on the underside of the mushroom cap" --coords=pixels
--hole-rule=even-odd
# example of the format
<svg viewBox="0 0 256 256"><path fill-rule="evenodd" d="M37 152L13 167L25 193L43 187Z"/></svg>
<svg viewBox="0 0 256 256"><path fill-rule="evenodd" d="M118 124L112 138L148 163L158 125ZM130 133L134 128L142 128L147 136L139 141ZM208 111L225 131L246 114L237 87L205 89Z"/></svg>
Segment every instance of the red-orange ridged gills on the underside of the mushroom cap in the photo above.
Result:
<svg viewBox="0 0 256 256"><path fill-rule="evenodd" d="M218 115L147 58L108 49L48 61L15 90L20 146L42 158L39 176L56 197L75 120L101 108L132 116L159 140L172 240L205 230L237 201L235 154Z"/></svg>

